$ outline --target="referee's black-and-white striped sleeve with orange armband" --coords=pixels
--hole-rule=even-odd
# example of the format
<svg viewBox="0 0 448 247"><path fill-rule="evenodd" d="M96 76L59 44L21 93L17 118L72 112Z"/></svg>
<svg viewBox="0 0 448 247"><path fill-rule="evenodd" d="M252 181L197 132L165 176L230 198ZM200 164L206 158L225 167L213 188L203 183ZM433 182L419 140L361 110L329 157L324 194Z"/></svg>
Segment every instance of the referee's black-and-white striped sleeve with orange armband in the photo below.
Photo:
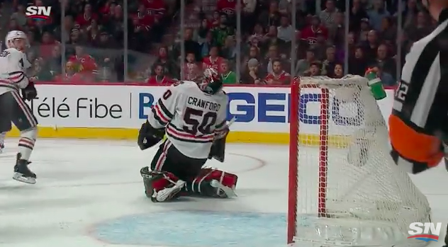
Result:
<svg viewBox="0 0 448 247"><path fill-rule="evenodd" d="M447 26L444 9L437 28L406 55L389 117L391 155L409 173L437 166L448 141Z"/></svg>

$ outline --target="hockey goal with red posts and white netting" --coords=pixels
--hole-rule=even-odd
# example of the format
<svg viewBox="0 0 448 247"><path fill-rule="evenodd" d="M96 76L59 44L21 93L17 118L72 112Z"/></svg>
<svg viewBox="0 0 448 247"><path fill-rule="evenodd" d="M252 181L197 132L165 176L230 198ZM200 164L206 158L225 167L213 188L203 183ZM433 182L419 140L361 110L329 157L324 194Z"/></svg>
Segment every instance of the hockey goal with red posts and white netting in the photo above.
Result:
<svg viewBox="0 0 448 247"><path fill-rule="evenodd" d="M430 205L389 156L388 130L362 76L291 84L288 243L426 246L409 224Z"/></svg>

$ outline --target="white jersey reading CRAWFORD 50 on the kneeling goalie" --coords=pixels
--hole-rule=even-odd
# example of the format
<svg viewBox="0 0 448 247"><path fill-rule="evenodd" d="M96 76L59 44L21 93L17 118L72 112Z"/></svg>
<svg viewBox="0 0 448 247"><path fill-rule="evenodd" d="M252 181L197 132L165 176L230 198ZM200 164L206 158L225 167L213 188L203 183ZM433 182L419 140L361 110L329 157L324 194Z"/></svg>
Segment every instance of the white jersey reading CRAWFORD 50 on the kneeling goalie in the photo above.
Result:
<svg viewBox="0 0 448 247"><path fill-rule="evenodd" d="M166 126L167 139L182 154L206 159L215 133L226 127L228 96L201 91L194 81L170 86L152 108L148 121L155 128Z"/></svg>

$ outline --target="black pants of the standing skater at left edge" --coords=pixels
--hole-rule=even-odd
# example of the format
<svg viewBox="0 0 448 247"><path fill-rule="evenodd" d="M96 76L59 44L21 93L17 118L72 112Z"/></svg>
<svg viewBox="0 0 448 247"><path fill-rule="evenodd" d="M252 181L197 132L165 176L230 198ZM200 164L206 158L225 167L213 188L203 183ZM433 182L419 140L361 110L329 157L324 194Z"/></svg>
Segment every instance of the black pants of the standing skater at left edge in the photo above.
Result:
<svg viewBox="0 0 448 247"><path fill-rule="evenodd" d="M0 95L0 132L10 131L11 122L21 131L38 126L33 111L16 91Z"/></svg>

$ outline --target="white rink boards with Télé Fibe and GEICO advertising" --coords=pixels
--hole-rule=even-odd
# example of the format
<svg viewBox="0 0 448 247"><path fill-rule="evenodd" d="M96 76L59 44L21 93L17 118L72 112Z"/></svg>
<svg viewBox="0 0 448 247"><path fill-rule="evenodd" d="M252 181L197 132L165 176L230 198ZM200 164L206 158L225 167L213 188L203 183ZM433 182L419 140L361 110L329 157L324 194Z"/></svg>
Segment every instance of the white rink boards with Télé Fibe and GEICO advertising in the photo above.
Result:
<svg viewBox="0 0 448 247"><path fill-rule="evenodd" d="M39 98L29 105L39 122L39 137L79 139L136 139L138 129L145 122L151 106L167 90L166 86L141 85L67 85L40 84ZM230 127L228 142L289 143L289 87L225 88L229 96L228 120L236 118ZM391 113L393 90L378 101L383 117ZM319 144L321 93L315 88L302 90L300 114L303 143ZM330 98L330 145L347 142L345 132L362 128L350 124L359 119L360 111L347 112L343 104ZM344 104L350 104L344 103ZM18 130L9 137L18 137Z"/></svg>

